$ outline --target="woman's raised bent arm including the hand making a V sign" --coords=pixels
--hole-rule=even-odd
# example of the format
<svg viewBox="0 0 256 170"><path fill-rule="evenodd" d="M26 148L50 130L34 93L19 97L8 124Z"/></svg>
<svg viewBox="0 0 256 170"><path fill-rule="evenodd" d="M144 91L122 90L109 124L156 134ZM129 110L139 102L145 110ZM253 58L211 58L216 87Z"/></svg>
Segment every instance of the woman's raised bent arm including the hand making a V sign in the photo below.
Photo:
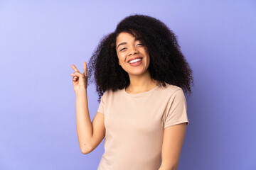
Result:
<svg viewBox="0 0 256 170"><path fill-rule="evenodd" d="M75 65L71 65L75 73L73 77L73 86L76 95L76 128L78 132L78 142L82 154L92 152L100 144L105 136L104 115L96 113L95 118L90 120L87 102L87 65L83 63L81 74Z"/></svg>

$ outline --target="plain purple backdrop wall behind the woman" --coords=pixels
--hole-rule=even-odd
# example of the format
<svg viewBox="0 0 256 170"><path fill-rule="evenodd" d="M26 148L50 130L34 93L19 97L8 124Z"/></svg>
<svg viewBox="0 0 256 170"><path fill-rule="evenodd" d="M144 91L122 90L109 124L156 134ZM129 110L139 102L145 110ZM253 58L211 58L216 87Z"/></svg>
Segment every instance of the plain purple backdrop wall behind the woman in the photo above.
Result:
<svg viewBox="0 0 256 170"><path fill-rule="evenodd" d="M178 169L256 169L255 1L0 1L0 169L97 169L82 154L71 64L133 13L178 36L195 86ZM99 103L88 86L90 118Z"/></svg>

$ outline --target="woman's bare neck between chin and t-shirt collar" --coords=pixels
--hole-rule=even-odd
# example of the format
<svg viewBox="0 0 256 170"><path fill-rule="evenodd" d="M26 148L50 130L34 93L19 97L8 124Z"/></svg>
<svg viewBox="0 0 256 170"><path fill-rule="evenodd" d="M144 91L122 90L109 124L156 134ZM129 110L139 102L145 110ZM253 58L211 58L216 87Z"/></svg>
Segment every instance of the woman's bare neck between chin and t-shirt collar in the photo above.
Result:
<svg viewBox="0 0 256 170"><path fill-rule="evenodd" d="M149 91L156 87L156 81L151 79L149 70L141 75L129 74L130 84L127 86L126 91L132 93L139 93Z"/></svg>

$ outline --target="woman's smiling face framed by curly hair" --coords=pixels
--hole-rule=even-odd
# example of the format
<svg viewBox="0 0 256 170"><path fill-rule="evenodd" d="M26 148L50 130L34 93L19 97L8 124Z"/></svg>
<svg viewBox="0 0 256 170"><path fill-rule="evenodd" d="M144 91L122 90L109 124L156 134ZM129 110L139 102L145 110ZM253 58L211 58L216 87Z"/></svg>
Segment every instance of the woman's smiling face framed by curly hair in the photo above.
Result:
<svg viewBox="0 0 256 170"><path fill-rule="evenodd" d="M134 38L129 33L119 33L116 41L116 50L119 65L129 75L148 72L149 52L140 38Z"/></svg>

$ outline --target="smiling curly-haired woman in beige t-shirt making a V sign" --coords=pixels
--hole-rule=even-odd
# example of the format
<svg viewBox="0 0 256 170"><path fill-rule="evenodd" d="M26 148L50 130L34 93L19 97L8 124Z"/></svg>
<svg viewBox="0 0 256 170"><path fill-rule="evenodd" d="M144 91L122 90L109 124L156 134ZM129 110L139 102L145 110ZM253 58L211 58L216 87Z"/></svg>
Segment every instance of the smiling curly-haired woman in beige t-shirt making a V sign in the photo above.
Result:
<svg viewBox="0 0 256 170"><path fill-rule="evenodd" d="M177 169L188 125L186 98L192 70L176 36L156 18L133 15L102 38L83 74L75 65L78 141L83 154L105 137L98 170ZM99 94L92 123L87 81Z"/></svg>

